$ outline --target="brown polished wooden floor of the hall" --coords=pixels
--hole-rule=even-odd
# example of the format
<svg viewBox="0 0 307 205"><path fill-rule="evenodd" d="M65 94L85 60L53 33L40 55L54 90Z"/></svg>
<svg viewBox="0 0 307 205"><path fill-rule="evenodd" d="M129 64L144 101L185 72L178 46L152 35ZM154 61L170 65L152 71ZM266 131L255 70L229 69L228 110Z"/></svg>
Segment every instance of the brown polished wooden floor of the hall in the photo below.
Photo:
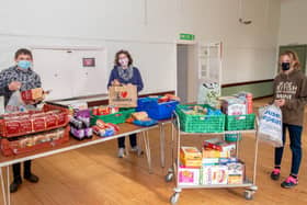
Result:
<svg viewBox="0 0 307 205"><path fill-rule="evenodd" d="M268 100L255 102L260 105ZM304 156L307 153L304 132ZM128 140L127 140L128 141ZM187 136L185 145L201 146L200 136ZM252 136L245 136L240 157L247 163L250 175L253 164ZM169 204L174 183L166 183L164 174L170 167L170 127L167 129L167 167L160 167L158 130L150 132L154 174L149 174L145 157L129 155L116 157L116 141L64 152L34 161L33 171L39 183L24 182L12 194L13 205L163 205ZM259 191L253 201L246 201L243 189L183 190L179 205L202 204L307 204L307 164L305 158L299 173L299 185L292 190L280 186L281 181L270 180L273 164L273 148L260 144L257 184ZM289 172L291 152L287 145L282 164L282 179ZM1 197L1 196L0 196ZM2 202L2 198L0 200Z"/></svg>

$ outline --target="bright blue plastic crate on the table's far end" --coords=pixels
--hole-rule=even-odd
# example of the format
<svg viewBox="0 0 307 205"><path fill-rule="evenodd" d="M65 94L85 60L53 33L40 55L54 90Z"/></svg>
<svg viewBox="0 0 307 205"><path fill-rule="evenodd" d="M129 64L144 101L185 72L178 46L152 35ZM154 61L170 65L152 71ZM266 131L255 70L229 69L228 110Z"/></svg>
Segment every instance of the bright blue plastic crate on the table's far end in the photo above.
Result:
<svg viewBox="0 0 307 205"><path fill-rule="evenodd" d="M158 103L158 99L141 98L137 101L136 111L145 111L150 118L160 121L171 118L178 104L178 101Z"/></svg>

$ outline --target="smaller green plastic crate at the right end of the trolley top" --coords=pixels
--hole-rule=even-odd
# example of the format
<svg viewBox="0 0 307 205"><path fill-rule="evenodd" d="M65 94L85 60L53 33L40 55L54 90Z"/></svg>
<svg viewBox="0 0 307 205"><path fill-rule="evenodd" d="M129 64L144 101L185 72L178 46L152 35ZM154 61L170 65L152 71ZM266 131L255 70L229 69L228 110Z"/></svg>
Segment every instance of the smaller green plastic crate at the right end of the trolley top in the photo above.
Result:
<svg viewBox="0 0 307 205"><path fill-rule="evenodd" d="M227 115L226 130L247 130L254 129L254 114L248 115Z"/></svg>

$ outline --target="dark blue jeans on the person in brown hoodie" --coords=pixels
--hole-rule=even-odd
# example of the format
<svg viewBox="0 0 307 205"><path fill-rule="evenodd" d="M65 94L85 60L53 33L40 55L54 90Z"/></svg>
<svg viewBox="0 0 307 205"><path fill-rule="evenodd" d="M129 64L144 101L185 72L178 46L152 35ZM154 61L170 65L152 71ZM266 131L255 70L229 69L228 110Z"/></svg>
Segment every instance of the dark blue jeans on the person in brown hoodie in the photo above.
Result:
<svg viewBox="0 0 307 205"><path fill-rule="evenodd" d="M283 124L283 143L286 143L286 128L289 134L289 147L292 150L291 174L298 174L302 160L302 126ZM275 148L275 166L281 166L284 152L284 146Z"/></svg>

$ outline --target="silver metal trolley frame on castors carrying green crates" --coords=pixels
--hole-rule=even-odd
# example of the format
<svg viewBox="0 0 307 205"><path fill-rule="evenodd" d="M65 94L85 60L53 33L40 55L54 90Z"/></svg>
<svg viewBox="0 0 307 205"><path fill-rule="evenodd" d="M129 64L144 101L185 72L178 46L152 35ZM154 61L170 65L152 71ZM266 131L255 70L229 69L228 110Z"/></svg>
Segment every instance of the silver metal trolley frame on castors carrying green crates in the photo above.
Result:
<svg viewBox="0 0 307 205"><path fill-rule="evenodd" d="M258 119L255 119L255 125L258 124ZM164 180L167 182L175 180L175 187L174 193L170 197L170 203L172 205L177 204L179 201L180 193L183 189L230 189L230 187L245 187L246 191L243 192L243 196L246 200L252 200L253 194L257 192L258 186L255 185L255 178L257 178L257 161L258 161L258 137L257 137L257 128L252 130L231 130L231 132L224 132L224 133L184 133L180 130L180 119L178 114L174 112L172 116L172 143L171 143L171 159L172 166L168 170L168 174L166 175ZM252 180L245 179L242 184L223 184L223 185L181 185L179 184L179 166L180 166L180 147L181 147L181 137L190 135L190 137L194 136L225 136L225 134L253 134L254 135L254 163L253 163L253 174ZM177 139L177 141L175 141ZM239 140L237 138L236 141L236 157L239 157ZM175 152L177 151L177 156ZM175 158L174 158L175 157Z"/></svg>

